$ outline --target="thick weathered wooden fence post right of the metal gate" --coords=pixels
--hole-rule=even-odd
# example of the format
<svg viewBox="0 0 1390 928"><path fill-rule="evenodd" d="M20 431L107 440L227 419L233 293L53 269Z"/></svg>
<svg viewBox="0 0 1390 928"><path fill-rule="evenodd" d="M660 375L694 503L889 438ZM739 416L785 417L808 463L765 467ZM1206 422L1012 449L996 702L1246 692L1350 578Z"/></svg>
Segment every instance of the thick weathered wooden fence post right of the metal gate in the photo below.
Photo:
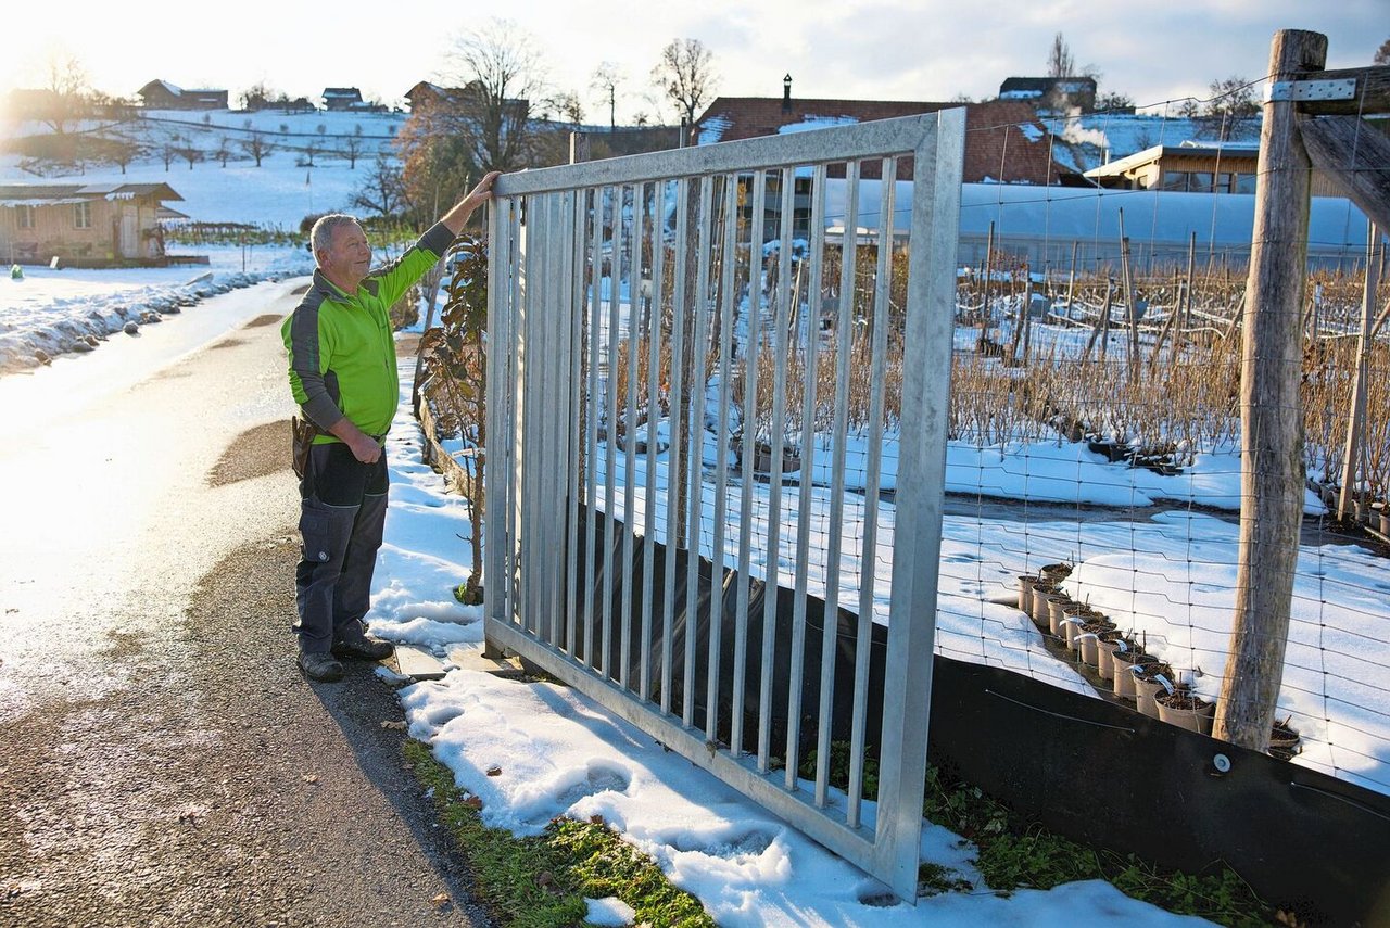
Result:
<svg viewBox="0 0 1390 928"><path fill-rule="evenodd" d="M1294 81L1322 68L1326 57L1326 36L1282 29L1269 53L1270 79L1275 86ZM1236 614L1213 731L1261 752L1269 747L1283 682L1304 497L1298 375L1311 168L1290 97L1265 103L1259 132L1241 350Z"/></svg>

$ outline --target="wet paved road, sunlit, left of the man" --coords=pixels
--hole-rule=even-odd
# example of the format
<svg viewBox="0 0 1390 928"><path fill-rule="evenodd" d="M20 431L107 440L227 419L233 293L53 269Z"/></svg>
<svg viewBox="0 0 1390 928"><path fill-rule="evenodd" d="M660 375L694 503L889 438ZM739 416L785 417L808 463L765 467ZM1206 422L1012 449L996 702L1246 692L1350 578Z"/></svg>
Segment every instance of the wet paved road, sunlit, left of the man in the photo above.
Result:
<svg viewBox="0 0 1390 928"><path fill-rule="evenodd" d="M0 378L0 924L485 924L393 693L293 665L291 290Z"/></svg>

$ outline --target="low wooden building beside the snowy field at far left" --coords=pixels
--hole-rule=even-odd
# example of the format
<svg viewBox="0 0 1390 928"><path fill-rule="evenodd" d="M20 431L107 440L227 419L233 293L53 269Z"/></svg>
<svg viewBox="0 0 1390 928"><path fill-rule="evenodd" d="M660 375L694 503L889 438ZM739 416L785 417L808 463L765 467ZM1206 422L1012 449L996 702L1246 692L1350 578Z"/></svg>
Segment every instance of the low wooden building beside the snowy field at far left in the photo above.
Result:
<svg viewBox="0 0 1390 928"><path fill-rule="evenodd" d="M165 261L163 204L182 200L167 183L0 185L0 257L19 264L110 267Z"/></svg>

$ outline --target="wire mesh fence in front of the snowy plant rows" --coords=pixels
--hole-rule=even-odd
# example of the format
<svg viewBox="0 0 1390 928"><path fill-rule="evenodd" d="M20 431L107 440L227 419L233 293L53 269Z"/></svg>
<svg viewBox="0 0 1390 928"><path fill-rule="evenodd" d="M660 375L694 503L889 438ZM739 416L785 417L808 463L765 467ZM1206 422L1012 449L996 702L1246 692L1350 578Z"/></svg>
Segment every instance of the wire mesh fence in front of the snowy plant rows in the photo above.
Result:
<svg viewBox="0 0 1390 928"><path fill-rule="evenodd" d="M1099 128L1074 119L1105 131L1104 114ZM678 568L684 596L706 583L710 615L727 600L735 621L766 629L766 583L792 590L794 604L821 600L826 615L891 624L903 424L923 413L902 399L923 360L905 347L913 196L897 176L891 160L806 164L609 186L578 207L596 257L571 265L575 502L632 532L584 522L571 574L606 585L566 593L567 647L760 770L785 768L788 784L812 777L819 799L835 742L803 727L817 713L796 688L788 729L771 735L739 704L727 718L717 700L701 704L717 681L702 690L681 679L698 663L681 652L695 636L657 635L652 664L631 654L651 645L653 603L677 582L676 558L651 556L656 543L714 565L713 579L698 578L698 558ZM1209 731L1238 522L1259 518L1240 463L1250 225L1243 245L1226 228L1252 210L1244 189L966 186L940 654ZM1355 207L1315 200L1314 213L1323 219L1311 232L1301 396L1286 411L1302 422L1308 488L1270 750L1390 792L1390 288L1383 250L1354 245L1372 238ZM692 217L710 238L677 239ZM983 243L967 242L972 222L988 225ZM699 450L682 457L684 445ZM556 588L550 602L566 595ZM710 654L724 647L719 628L699 643ZM575 640L585 629L598 640ZM851 663L867 660L866 640L841 642ZM776 675L744 650L724 672L733 692ZM833 674L808 692L858 699ZM859 725L862 706L848 715ZM851 803L865 795L859 761L876 752L856 732Z"/></svg>

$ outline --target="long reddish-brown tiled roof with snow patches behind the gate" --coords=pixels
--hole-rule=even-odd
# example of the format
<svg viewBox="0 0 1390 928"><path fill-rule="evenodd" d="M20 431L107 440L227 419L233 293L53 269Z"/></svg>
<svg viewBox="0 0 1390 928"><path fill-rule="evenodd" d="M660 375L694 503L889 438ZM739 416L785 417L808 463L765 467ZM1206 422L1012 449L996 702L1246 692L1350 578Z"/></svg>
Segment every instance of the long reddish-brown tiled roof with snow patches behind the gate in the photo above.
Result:
<svg viewBox="0 0 1390 928"><path fill-rule="evenodd" d="M930 103L908 100L810 100L792 99L783 111L780 97L719 97L695 121L696 138L717 135L719 142L737 142L776 135L784 125L816 119L869 122L920 115L952 107L966 108L965 172L967 183L1005 181L1012 183L1058 183L1074 174L1052 161L1047 129L1027 103ZM710 139L716 140L716 139ZM898 165L898 176L912 176L910 160ZM865 176L870 165L865 165ZM874 174L874 176L877 176Z"/></svg>

